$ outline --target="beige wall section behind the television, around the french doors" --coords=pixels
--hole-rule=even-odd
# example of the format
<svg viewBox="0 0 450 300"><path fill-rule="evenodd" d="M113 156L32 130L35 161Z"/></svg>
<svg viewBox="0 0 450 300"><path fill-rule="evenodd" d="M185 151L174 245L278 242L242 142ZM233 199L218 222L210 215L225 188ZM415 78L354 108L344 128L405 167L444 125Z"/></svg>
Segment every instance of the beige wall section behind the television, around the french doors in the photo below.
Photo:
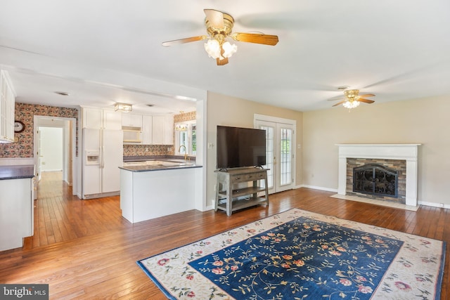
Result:
<svg viewBox="0 0 450 300"><path fill-rule="evenodd" d="M274 99L276 105L276 99ZM212 143L214 147L207 149L207 205L211 205L214 200L214 184L216 184L216 174L214 174L216 166L216 131L217 125L237 126L253 128L253 117L255 114L268 115L271 117L281 117L284 119L294 119L297 121L296 138L297 144L302 143L302 112L295 110L286 110L284 108L271 105L262 105L261 103L252 102L224 96L217 93L208 92L207 95L207 145ZM297 169L295 175L295 184L302 183L302 171L300 164L302 162L301 149L296 152Z"/></svg>

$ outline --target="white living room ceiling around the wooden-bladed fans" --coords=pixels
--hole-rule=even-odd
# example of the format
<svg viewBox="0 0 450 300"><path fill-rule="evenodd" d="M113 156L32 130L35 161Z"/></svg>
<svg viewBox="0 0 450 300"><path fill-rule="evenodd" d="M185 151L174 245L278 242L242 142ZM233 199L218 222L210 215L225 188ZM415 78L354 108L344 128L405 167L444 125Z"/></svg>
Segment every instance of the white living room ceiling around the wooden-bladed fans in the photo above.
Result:
<svg viewBox="0 0 450 300"><path fill-rule="evenodd" d="M450 95L448 0L2 0L0 67L17 102L193 110L213 91L307 111L329 108L338 86L378 103ZM204 8L234 32L276 34L276 46L236 42L217 66L203 41ZM55 91L70 93L59 96ZM155 105L153 109L146 104ZM342 109L334 107L333 109Z"/></svg>

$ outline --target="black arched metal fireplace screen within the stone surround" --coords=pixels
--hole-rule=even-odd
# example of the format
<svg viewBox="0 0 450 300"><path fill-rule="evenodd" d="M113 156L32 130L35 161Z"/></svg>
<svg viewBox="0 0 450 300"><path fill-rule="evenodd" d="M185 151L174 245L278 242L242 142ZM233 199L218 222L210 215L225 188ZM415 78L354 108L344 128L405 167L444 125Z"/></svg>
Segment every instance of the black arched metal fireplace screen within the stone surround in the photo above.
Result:
<svg viewBox="0 0 450 300"><path fill-rule="evenodd" d="M395 170L380 164L365 164L353 169L353 191L397 198L398 178Z"/></svg>

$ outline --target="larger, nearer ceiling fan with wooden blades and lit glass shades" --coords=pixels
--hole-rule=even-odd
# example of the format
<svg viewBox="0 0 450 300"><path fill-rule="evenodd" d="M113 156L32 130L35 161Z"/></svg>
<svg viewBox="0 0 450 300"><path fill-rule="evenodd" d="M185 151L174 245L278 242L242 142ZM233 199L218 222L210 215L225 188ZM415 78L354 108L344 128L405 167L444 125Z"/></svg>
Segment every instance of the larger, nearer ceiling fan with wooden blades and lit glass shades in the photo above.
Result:
<svg viewBox="0 0 450 300"><path fill-rule="evenodd" d="M162 46L173 46L177 44L185 44L191 41L203 41L205 43L205 51L212 58L215 58L217 65L226 65L229 58L236 53L238 46L231 44L226 39L231 38L235 41L245 41L254 44L264 44L275 46L278 43L276 35L249 32L232 32L234 19L228 13L222 13L214 9L204 9L206 18L205 25L208 35L199 35L197 37L187 37L185 39L175 39L174 41L165 41Z"/></svg>

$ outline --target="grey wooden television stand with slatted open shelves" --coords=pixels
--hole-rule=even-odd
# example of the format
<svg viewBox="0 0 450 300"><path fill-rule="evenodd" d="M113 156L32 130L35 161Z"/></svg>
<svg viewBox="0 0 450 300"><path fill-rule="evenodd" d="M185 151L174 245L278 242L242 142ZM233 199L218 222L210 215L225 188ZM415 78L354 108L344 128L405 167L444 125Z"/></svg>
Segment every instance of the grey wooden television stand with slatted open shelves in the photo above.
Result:
<svg viewBox="0 0 450 300"><path fill-rule="evenodd" d="M217 170L216 202L214 211L221 209L231 216L233 211L252 207L258 204L269 205L269 188L267 188L267 169L238 168ZM264 187L258 186L258 181L264 180ZM248 183L252 186L238 187L238 183ZM264 192L264 197L258 197ZM245 197L248 196L248 197Z"/></svg>

